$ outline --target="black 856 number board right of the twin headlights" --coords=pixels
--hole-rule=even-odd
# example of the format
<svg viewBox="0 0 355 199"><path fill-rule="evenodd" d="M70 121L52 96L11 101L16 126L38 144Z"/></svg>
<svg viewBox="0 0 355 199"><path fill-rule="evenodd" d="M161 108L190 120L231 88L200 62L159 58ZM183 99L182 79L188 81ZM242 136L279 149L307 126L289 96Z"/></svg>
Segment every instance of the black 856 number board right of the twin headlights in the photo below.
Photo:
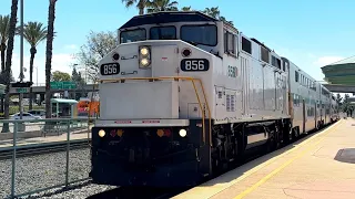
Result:
<svg viewBox="0 0 355 199"><path fill-rule="evenodd" d="M210 62L206 59L184 59L181 60L180 69L184 72L209 71Z"/></svg>

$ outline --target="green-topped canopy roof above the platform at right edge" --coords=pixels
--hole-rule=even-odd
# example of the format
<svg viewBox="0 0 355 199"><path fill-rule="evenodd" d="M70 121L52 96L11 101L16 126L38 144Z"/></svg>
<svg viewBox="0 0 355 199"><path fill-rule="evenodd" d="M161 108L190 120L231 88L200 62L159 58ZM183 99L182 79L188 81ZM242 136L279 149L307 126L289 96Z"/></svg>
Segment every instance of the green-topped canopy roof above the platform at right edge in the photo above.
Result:
<svg viewBox="0 0 355 199"><path fill-rule="evenodd" d="M355 86L355 56L351 56L338 62L321 67L325 81L336 85Z"/></svg>

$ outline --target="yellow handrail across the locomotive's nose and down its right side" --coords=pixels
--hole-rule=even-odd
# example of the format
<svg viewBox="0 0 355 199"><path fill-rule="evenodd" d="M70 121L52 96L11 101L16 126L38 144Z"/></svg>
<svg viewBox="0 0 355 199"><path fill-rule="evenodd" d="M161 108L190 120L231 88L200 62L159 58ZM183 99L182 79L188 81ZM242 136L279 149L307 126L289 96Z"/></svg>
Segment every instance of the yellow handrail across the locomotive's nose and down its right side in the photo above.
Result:
<svg viewBox="0 0 355 199"><path fill-rule="evenodd" d="M144 81L144 80L151 80L151 81L155 81L155 80L185 80L185 81L191 81L192 83L192 86L194 88L194 92L196 94L196 98L197 98L197 102L199 102L199 106L200 106L200 109L202 112L202 130L203 130L203 140L206 142L205 139L205 112L202 106L202 103L201 103L201 100L200 100L200 96L199 96L199 92L197 92L197 88L196 88L196 85L195 85L195 82L194 81L197 81L200 83L200 86L202 88L202 94L203 94L203 97L204 97L204 102L205 102L205 105L207 107L207 111L209 111L209 134L210 134L210 146L212 146L212 116L211 116L211 109L210 109L210 105L209 105L209 102L207 102L207 98L206 98L206 94L205 94L205 91L204 91L204 87L203 87L203 84L202 84L202 81L200 78L194 78L194 77L191 77L191 76L159 76L159 77L120 77L120 78L110 78L110 80L100 80L101 83L116 83L119 81L129 81L129 80L138 80L138 81Z"/></svg>

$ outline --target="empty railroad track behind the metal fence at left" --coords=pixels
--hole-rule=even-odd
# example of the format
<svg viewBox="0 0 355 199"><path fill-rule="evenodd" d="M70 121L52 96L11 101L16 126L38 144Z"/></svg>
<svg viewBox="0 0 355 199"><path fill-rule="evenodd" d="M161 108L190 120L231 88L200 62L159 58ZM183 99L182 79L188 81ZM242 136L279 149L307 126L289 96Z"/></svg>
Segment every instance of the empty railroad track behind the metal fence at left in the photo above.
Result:
<svg viewBox="0 0 355 199"><path fill-rule="evenodd" d="M65 151L68 147L67 142L54 142L54 143L45 143L45 144L30 144L30 145L20 145L17 146L16 157L29 157L36 155L51 154ZM89 143L88 139L78 139L69 142L69 149L82 149L88 148ZM0 160L11 159L13 154L13 147L0 148Z"/></svg>

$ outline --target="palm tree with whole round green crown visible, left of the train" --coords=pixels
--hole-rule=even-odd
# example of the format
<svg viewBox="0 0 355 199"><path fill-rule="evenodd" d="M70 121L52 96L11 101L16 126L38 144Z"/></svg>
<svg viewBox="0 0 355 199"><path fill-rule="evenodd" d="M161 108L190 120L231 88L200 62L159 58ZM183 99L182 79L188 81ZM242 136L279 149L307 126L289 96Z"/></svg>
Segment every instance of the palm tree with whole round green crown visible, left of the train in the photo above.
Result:
<svg viewBox="0 0 355 199"><path fill-rule="evenodd" d="M40 22L28 22L24 24L23 38L31 45L30 53L30 82L32 82L33 73L33 61L37 53L37 45L47 38L47 28L43 27L43 23ZM30 87L30 106L29 109L32 109L32 87Z"/></svg>

